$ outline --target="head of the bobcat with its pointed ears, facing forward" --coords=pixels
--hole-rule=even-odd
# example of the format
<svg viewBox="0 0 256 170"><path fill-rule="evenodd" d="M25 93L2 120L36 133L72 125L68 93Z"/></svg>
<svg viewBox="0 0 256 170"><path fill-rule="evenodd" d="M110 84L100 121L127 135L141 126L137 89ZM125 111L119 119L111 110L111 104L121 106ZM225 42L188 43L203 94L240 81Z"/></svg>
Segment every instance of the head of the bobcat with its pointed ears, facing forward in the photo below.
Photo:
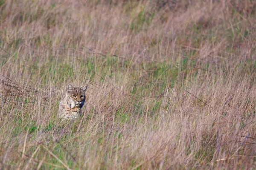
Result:
<svg viewBox="0 0 256 170"><path fill-rule="evenodd" d="M71 84L67 86L66 89L66 97L68 98L68 106L70 108L78 108L81 109L85 102L85 91L87 86L82 88L73 88Z"/></svg>

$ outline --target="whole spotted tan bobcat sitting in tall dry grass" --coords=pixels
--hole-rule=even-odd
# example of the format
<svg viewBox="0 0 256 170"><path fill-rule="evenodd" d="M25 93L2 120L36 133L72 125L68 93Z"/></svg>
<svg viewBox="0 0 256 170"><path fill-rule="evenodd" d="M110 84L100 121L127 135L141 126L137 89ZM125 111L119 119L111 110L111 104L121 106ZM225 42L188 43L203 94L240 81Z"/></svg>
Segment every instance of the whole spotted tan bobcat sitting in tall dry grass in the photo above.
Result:
<svg viewBox="0 0 256 170"><path fill-rule="evenodd" d="M74 88L70 83L67 85L66 94L60 102L58 116L63 119L74 120L81 116L81 108L85 102L87 85L82 88Z"/></svg>

